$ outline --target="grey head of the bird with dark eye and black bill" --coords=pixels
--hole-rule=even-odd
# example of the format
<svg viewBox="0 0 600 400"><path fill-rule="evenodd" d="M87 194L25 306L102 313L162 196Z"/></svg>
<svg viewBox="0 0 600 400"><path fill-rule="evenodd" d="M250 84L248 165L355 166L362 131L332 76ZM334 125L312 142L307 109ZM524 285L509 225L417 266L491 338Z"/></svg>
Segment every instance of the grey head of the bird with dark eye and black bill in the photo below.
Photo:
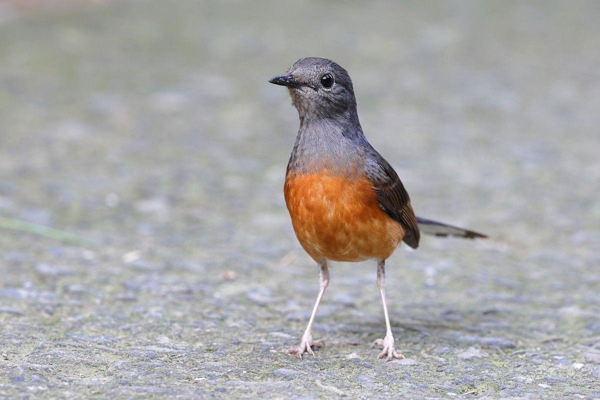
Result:
<svg viewBox="0 0 600 400"><path fill-rule="evenodd" d="M301 119L353 119L356 115L350 76L326 58L301 58L287 74L272 77L269 82L287 86Z"/></svg>

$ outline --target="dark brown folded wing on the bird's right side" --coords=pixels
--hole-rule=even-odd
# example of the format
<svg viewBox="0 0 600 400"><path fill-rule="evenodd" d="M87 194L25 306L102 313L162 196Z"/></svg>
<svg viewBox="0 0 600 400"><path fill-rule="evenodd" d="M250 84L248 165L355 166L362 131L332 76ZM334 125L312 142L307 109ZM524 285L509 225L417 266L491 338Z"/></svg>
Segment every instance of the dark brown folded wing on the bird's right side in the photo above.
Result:
<svg viewBox="0 0 600 400"><path fill-rule="evenodd" d="M400 222L406 230L404 243L416 249L419 246L419 225L416 221L415 212L410 206L409 194L404 189L398 174L377 153L367 157L365 171L367 172L367 178L373 184L379 206L395 221Z"/></svg>

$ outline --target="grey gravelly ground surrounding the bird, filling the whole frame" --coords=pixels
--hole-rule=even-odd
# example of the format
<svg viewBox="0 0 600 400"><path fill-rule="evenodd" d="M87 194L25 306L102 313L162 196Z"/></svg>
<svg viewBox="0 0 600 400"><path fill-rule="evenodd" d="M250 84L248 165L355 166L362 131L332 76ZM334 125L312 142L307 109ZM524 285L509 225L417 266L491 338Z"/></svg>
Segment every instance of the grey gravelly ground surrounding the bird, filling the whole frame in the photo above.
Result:
<svg viewBox="0 0 600 400"><path fill-rule="evenodd" d="M600 3L0 1L0 399L600 398ZM349 70L425 237L318 289L283 201ZM36 225L26 225L26 223ZM42 230L50 227L61 232Z"/></svg>

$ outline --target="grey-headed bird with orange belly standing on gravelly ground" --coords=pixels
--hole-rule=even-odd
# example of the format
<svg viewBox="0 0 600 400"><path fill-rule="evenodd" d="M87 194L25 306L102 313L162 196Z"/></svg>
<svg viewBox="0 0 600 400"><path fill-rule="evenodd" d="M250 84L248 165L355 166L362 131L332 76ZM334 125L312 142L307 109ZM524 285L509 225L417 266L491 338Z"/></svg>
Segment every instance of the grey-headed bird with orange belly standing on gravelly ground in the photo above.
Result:
<svg viewBox="0 0 600 400"><path fill-rule="evenodd" d="M417 248L421 231L436 236L487 237L415 215L397 173L367 141L356 111L352 80L326 58L301 58L285 74L269 79L286 86L300 127L287 164L284 198L300 245L319 268L319 293L298 347L314 356L317 308L329 285L329 261L376 260L377 287L386 333L373 342L378 358L403 359L395 349L385 296L385 260L401 242Z"/></svg>

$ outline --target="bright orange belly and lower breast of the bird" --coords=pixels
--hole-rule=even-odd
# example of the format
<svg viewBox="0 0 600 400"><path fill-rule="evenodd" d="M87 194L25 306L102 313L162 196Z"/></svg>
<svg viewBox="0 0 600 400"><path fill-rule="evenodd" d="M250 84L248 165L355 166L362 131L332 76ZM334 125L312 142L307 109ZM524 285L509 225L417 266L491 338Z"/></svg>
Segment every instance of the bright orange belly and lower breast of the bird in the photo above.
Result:
<svg viewBox="0 0 600 400"><path fill-rule="evenodd" d="M385 260L404 237L366 178L290 174L284 196L296 236L316 261Z"/></svg>

